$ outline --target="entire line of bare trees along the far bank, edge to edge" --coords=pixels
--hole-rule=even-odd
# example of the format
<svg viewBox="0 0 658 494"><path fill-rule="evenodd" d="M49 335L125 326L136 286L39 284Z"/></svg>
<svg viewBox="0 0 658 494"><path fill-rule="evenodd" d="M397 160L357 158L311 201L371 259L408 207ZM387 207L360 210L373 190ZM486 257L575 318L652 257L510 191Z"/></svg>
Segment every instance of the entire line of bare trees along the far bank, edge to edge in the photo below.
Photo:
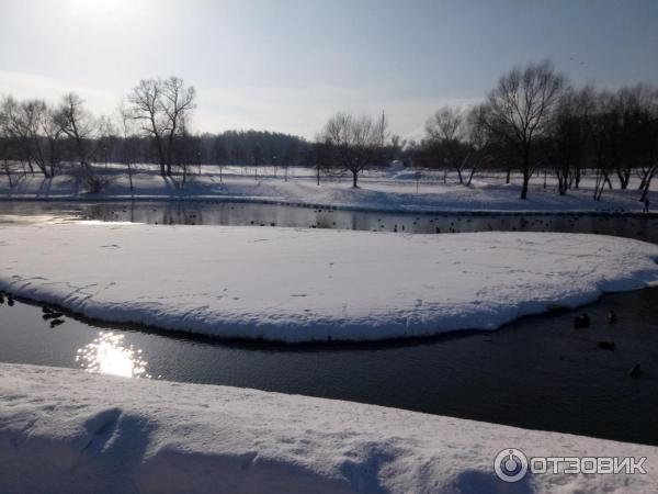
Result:
<svg viewBox="0 0 658 494"><path fill-rule="evenodd" d="M594 199L619 181L628 188L639 178L644 200L658 173L658 90L646 85L616 92L574 88L549 61L530 64L502 76L486 99L469 109L445 106L426 124L419 144L392 135L385 114L354 116L339 112L308 145L283 134L242 132L192 135L195 90L181 78L141 80L113 116L94 117L75 93L54 106L42 100L0 101L0 164L9 177L10 162L25 172L55 176L61 164L91 190L104 186L95 171L109 160L132 166L157 162L166 179L195 164L313 165L320 172L348 172L358 187L370 167L394 158L417 166L456 171L469 186L477 170L512 170L522 176L521 199L530 180L549 171L557 190L577 189L585 173L593 175ZM97 164L95 168L92 164ZM200 167L201 169L201 167ZM181 173L182 172L182 173ZM256 176L256 173L254 173ZM287 176L287 173L286 173ZM174 180L175 181L175 180ZM178 184L178 182L177 182Z"/></svg>

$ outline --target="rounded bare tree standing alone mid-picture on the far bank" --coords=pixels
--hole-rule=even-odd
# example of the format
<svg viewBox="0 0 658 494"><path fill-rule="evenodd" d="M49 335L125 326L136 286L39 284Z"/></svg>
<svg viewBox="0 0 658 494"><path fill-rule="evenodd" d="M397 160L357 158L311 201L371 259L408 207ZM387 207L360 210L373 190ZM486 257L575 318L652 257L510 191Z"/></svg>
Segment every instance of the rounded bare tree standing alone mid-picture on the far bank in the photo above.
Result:
<svg viewBox="0 0 658 494"><path fill-rule="evenodd" d="M318 141L331 151L337 167L352 173L352 187L358 188L359 173L374 164L386 132L385 119L374 122L367 115L339 112L329 119Z"/></svg>

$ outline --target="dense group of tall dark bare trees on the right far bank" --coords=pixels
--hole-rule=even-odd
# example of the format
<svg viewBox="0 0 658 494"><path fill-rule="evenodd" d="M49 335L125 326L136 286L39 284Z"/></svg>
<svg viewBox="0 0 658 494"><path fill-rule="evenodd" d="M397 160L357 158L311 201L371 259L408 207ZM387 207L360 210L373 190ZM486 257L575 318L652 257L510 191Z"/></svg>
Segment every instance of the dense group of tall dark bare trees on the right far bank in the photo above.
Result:
<svg viewBox="0 0 658 494"><path fill-rule="evenodd" d="M530 64L501 77L483 103L440 109L408 153L419 165L455 170L465 184L476 169L506 170L508 182L517 170L521 199L540 171L551 171L566 194L589 170L595 200L611 178L627 189L637 175L645 200L658 173L658 89L574 88L549 61Z"/></svg>

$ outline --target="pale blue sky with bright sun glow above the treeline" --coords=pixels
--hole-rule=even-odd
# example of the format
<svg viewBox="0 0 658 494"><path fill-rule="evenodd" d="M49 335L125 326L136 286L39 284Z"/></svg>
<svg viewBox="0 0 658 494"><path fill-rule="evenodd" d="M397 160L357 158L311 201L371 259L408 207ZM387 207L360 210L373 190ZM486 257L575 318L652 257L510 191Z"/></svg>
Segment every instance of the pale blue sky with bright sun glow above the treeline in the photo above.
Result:
<svg viewBox="0 0 658 494"><path fill-rule="evenodd" d="M514 65L549 57L576 83L658 85L658 1L3 0L0 93L76 90L112 112L140 78L196 87L198 131L313 138L338 110L418 136Z"/></svg>

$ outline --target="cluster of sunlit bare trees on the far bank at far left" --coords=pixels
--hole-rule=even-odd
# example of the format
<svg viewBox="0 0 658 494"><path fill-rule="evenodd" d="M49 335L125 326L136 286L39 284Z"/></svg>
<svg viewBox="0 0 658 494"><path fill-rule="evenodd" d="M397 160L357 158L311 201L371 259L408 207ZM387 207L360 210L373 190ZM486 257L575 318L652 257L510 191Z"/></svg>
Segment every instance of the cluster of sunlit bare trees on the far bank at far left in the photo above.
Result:
<svg viewBox="0 0 658 494"><path fill-rule="evenodd" d="M171 176L174 162L190 161L182 155L194 99L194 88L177 77L140 81L114 117L93 116L75 93L65 94L56 106L5 97L0 101L0 159L10 181L10 160L25 164L32 173L36 168L45 178L54 177L63 162L76 162L76 172L94 189L102 183L93 183L101 179L93 173L92 161L104 157L106 162L113 147L129 166L143 145L139 139L148 136L161 175Z"/></svg>

